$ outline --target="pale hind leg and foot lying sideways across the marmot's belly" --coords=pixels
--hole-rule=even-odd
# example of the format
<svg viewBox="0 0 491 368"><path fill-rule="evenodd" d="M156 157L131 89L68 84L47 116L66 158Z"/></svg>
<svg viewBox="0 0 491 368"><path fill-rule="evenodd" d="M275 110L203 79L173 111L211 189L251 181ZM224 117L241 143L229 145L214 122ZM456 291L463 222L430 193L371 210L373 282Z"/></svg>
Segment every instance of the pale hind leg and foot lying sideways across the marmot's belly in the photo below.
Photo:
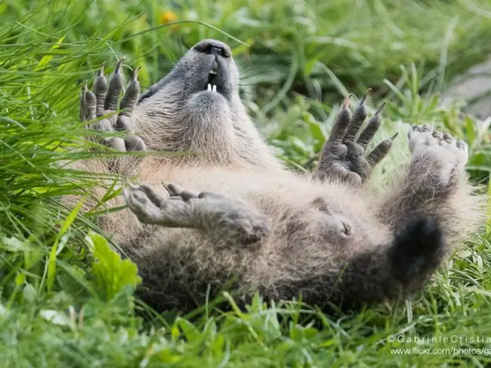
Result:
<svg viewBox="0 0 491 368"><path fill-rule="evenodd" d="M215 246L258 244L269 235L267 218L247 204L217 193L193 193L175 184L163 198L148 185L124 188L126 203L144 224L200 229Z"/></svg>

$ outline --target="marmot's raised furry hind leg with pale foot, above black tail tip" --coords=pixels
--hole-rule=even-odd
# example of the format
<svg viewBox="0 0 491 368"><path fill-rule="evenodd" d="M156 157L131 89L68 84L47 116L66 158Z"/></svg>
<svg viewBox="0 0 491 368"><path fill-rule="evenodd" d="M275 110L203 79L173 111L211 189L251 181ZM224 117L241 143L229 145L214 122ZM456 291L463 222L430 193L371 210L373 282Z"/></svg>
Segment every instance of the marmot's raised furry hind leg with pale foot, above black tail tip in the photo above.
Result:
<svg viewBox="0 0 491 368"><path fill-rule="evenodd" d="M463 216L472 217L472 211L478 209L469 208L473 197L465 183L467 144L428 125L413 126L409 140L412 152L409 171L385 198L381 217L393 229L412 215L434 217L446 229L470 222L470 218Z"/></svg>

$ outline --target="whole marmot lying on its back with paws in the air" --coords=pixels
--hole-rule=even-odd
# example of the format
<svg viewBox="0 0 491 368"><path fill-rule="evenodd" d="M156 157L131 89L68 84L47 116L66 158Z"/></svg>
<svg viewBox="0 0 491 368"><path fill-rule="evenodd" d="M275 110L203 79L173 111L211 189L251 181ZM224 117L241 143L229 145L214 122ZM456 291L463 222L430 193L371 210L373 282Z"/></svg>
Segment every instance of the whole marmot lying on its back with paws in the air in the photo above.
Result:
<svg viewBox="0 0 491 368"><path fill-rule="evenodd" d="M258 134L238 82L229 46L205 39L139 99L136 70L125 110L91 126L127 130L106 142L122 151L189 153L83 163L149 183L126 186L129 209L100 225L136 262L139 296L155 309L192 309L225 285L242 302L256 291L267 300L301 295L319 307L394 300L420 289L481 223L461 139L413 126L407 170L374 196L365 182L392 139L365 155L381 124L378 110L361 129L365 97L353 114L345 101L318 168L299 175ZM81 118L117 110L122 83L121 62L109 83L100 72L94 91L82 94Z"/></svg>

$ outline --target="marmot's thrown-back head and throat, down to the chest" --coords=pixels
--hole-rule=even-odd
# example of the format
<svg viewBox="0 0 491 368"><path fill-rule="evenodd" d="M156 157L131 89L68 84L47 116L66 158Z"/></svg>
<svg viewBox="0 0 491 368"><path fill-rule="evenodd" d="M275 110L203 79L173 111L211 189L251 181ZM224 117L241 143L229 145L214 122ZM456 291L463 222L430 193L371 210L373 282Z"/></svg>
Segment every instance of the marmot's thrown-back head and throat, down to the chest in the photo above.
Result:
<svg viewBox="0 0 491 368"><path fill-rule="evenodd" d="M186 52L140 97L133 117L151 150L193 151L213 162L256 166L273 161L240 100L231 50L214 39Z"/></svg>

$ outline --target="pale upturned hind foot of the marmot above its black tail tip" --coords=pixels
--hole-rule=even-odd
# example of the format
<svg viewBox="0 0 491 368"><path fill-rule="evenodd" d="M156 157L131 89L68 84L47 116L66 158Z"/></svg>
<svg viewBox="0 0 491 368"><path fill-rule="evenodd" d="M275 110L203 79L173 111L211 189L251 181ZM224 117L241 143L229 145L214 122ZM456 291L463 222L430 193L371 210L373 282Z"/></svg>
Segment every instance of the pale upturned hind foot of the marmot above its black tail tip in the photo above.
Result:
<svg viewBox="0 0 491 368"><path fill-rule="evenodd" d="M413 170L432 171L444 185L465 171L469 152L462 139L434 130L428 124L412 126L408 137Z"/></svg>

